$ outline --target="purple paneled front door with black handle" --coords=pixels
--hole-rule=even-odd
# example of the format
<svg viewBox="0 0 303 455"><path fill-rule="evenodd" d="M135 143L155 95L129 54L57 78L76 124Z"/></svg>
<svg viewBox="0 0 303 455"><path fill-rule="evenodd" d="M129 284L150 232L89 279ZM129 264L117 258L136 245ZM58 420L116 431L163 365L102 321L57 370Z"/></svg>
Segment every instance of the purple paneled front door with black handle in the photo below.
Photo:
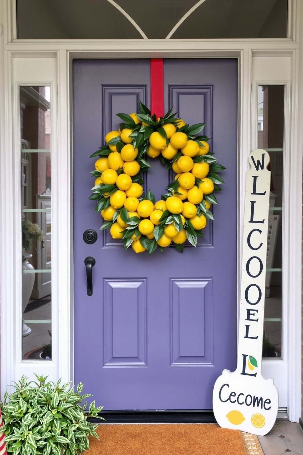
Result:
<svg viewBox="0 0 303 455"><path fill-rule="evenodd" d="M184 253L136 254L99 231L89 201L94 158L119 112L149 105L149 60L75 60L74 323L75 382L104 410L211 409L224 368L236 367L237 292L237 61L164 60L164 111L174 105L186 123L205 122L210 150L227 169L214 222ZM160 198L172 181L149 160L146 189ZM98 239L84 243L94 229ZM95 258L93 295L84 259Z"/></svg>

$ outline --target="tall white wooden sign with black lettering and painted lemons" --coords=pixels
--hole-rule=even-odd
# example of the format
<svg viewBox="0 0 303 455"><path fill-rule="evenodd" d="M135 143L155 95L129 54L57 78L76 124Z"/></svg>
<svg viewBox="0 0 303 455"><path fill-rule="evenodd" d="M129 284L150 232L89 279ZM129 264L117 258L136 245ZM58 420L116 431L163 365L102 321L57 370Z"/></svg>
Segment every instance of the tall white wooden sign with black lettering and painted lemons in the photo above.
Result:
<svg viewBox="0 0 303 455"><path fill-rule="evenodd" d="M246 173L238 361L224 370L213 392L214 416L223 428L266 435L278 413L278 390L261 374L270 172L269 155L257 149Z"/></svg>

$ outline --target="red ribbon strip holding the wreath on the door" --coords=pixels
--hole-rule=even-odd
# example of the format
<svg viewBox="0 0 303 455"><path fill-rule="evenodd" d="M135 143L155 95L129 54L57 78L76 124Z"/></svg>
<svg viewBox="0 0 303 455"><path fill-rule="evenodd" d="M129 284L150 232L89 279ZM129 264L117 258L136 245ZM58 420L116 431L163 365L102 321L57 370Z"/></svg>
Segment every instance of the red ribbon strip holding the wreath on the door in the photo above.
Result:
<svg viewBox="0 0 303 455"><path fill-rule="evenodd" d="M157 117L164 116L163 59L150 59L150 111Z"/></svg>

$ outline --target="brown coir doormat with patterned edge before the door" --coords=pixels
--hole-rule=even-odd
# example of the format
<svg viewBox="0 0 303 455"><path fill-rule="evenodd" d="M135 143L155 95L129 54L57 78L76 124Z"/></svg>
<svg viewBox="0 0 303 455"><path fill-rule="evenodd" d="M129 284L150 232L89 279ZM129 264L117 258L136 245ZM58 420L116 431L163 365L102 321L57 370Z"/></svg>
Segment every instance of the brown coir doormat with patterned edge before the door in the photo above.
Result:
<svg viewBox="0 0 303 455"><path fill-rule="evenodd" d="M264 455L258 438L217 424L101 424L85 455Z"/></svg>

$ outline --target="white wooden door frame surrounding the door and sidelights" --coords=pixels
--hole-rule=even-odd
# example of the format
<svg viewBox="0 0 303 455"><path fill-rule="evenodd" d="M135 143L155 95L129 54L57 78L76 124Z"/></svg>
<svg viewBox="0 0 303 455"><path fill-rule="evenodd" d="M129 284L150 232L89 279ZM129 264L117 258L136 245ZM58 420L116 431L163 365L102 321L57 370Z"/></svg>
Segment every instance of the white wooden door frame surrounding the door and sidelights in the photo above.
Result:
<svg viewBox="0 0 303 455"><path fill-rule="evenodd" d="M71 62L73 58L204 58L237 57L239 61L238 113L238 276L241 270L243 202L248 155L256 141L257 79L252 65L258 58L286 58L290 76L273 77L272 82L287 84L286 151L283 229L283 344L285 346L288 383L287 406L290 420L298 421L301 413L301 195L303 135L303 51L299 49L299 18L303 24L303 1L291 2L293 40L130 40L130 41L25 41L12 40L15 21L11 20L9 0L0 0L0 305L1 305L1 395L8 384L34 372L48 374L50 379L73 379L73 278L72 278L72 179L71 179ZM301 5L301 10L300 10ZM3 10L1 10L3 7ZM49 59L39 73L35 61ZM46 59L46 60L45 60ZM1 64L3 62L3 65ZM276 61L277 63L277 61ZM23 65L23 66L22 66ZM30 66L31 65L31 66ZM255 66L253 67L255 68ZM45 69L45 68L44 68ZM46 71L45 70L45 71ZM269 69L270 70L270 69ZM254 71L254 69L253 69ZM34 76L35 73L35 76ZM253 76L254 75L254 76ZM34 79L33 79L34 77ZM254 79L252 78L254 77ZM264 76L263 76L264 77ZM21 242L20 242L20 173L18 84L52 84L52 192L53 263L53 360L21 362ZM252 94L252 95L251 95ZM58 124L58 128L56 128ZM11 151L9 153L8 151ZM13 222L12 222L13 220ZM11 248L11 245L15 245ZM300 245L300 248L298 248ZM291 304L289 304L291 303ZM60 348L64 347L64 348ZM264 360L263 372L280 368L276 360ZM279 374L278 370L275 374ZM278 376L277 376L278 377Z"/></svg>

